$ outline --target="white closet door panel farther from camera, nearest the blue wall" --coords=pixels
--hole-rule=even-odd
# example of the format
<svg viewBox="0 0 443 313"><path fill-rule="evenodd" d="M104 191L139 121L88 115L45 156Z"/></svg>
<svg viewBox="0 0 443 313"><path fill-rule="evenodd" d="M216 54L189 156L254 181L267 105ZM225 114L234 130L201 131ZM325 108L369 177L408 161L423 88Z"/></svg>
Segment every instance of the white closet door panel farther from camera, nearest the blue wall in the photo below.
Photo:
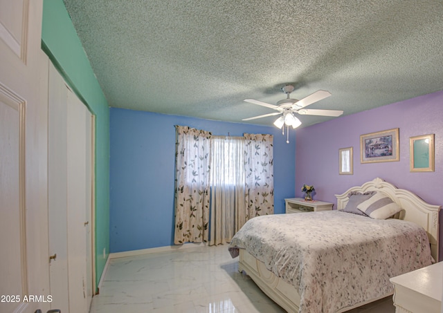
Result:
<svg viewBox="0 0 443 313"><path fill-rule="evenodd" d="M90 133L91 113L72 92L68 92L67 108L67 231L69 312L88 312L87 306L87 207L91 206L91 155L87 155L87 136Z"/></svg>

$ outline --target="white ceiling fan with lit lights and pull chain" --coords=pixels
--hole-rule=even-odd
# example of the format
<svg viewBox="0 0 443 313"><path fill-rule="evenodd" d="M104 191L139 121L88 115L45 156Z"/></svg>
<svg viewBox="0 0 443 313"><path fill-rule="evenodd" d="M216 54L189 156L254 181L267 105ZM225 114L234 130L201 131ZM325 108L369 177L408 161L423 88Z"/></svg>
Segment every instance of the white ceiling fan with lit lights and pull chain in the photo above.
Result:
<svg viewBox="0 0 443 313"><path fill-rule="evenodd" d="M322 116L334 116L334 117L343 114L343 111L341 110L321 110L315 108L305 108L305 106L309 106L309 104L313 104L315 102L320 101L321 99L329 97L331 95L329 91L316 91L315 93L312 93L311 95L308 95L307 97L298 100L298 99L291 99L289 97L289 94L292 93L293 90L294 87L289 84L282 87L282 91L287 94L287 98L277 102L276 106L273 104L257 101L254 99L245 99L244 101L246 102L252 104L258 104L259 106L266 106L266 108L273 108L278 112L268 113L254 117L248 117L244 118L243 120L249 121L266 116L282 114L282 116L278 117L278 119L275 120L274 125L277 126L279 129L281 129L286 124L288 128L289 126L292 126L293 129L296 129L298 126L302 124L302 122L300 122L300 120L298 120L298 118L293 113L298 113L301 115L322 115ZM284 129L283 129L283 134L284 134Z"/></svg>

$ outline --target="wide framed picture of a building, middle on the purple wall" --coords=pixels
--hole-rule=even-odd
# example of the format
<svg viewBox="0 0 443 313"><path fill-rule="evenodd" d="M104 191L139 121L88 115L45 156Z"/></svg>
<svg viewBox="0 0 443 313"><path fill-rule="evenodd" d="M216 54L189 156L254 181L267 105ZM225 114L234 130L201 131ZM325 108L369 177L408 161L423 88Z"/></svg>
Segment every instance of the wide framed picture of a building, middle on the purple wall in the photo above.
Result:
<svg viewBox="0 0 443 313"><path fill-rule="evenodd" d="M399 129L360 136L361 163L399 161Z"/></svg>

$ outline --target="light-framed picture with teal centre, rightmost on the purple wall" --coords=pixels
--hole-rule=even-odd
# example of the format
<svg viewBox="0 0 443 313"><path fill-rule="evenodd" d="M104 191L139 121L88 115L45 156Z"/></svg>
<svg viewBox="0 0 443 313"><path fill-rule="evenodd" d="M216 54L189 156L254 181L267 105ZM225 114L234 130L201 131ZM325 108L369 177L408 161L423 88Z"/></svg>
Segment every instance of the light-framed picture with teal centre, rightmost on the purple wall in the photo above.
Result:
<svg viewBox="0 0 443 313"><path fill-rule="evenodd" d="M411 172L433 172L434 156L434 134L409 138Z"/></svg>

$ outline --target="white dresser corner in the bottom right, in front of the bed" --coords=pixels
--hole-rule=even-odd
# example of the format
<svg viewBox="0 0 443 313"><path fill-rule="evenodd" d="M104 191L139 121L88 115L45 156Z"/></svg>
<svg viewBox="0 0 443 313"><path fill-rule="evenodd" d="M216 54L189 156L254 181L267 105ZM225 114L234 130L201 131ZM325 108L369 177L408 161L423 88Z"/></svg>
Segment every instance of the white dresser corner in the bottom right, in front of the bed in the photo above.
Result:
<svg viewBox="0 0 443 313"><path fill-rule="evenodd" d="M443 312L443 262L392 277L390 282L395 289L396 313Z"/></svg>

